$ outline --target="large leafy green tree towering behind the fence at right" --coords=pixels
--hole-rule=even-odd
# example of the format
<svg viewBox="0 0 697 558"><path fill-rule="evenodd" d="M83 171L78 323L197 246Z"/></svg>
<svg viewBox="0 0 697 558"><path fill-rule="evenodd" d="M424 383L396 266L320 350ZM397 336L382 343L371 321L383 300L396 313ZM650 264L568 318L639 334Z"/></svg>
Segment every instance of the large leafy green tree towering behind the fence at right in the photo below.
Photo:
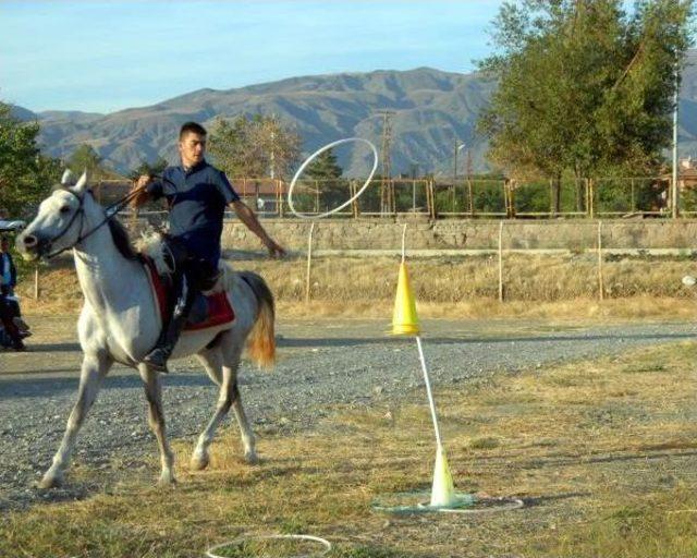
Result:
<svg viewBox="0 0 697 558"><path fill-rule="evenodd" d="M513 178L656 170L670 145L675 61L692 44L693 2L523 0L494 21L481 69L498 89L478 126Z"/></svg>

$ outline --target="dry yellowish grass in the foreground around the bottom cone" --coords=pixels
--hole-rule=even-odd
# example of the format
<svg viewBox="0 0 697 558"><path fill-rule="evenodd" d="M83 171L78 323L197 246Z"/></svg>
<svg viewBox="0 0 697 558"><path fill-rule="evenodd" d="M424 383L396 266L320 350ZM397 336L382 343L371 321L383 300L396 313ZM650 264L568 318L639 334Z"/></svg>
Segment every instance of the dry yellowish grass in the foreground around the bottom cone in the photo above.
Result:
<svg viewBox="0 0 697 558"><path fill-rule="evenodd" d="M82 501L7 514L0 556L192 557L243 532L317 534L345 558L695 556L696 356L695 344L673 344L439 389L457 488L517 495L522 511L370 511L379 495L428 486L419 390L400 405L334 409L302 434L269 425L256 468L240 462L234 432L205 473L186 472L191 447L176 444L176 488L133 471ZM151 466L154 477L155 457ZM95 485L99 473L78 468L70 482Z"/></svg>

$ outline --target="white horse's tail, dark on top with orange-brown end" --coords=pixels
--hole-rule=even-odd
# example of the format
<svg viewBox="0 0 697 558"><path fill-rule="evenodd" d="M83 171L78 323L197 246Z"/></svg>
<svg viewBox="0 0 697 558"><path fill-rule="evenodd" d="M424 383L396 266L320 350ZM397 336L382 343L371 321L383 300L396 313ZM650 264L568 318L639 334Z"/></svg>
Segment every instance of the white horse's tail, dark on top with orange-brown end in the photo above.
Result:
<svg viewBox="0 0 697 558"><path fill-rule="evenodd" d="M257 320L247 337L247 352L258 366L271 367L276 362L273 294L266 281L254 271L240 271L240 277L257 298Z"/></svg>

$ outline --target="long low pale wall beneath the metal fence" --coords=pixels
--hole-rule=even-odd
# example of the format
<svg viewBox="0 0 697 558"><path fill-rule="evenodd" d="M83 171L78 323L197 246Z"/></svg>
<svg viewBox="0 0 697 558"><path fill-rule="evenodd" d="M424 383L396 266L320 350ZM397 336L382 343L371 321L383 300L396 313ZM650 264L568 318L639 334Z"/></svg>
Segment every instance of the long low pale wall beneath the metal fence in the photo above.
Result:
<svg viewBox="0 0 697 558"><path fill-rule="evenodd" d="M546 220L438 220L357 219L320 220L315 225L316 250L400 250L407 225L409 250L492 250L498 246L503 222L503 245L518 250L594 248L598 221ZM267 219L266 230L283 246L305 251L309 221ZM261 250L258 239L239 221L227 221L223 250ZM603 220L602 245L607 248L697 248L697 220Z"/></svg>

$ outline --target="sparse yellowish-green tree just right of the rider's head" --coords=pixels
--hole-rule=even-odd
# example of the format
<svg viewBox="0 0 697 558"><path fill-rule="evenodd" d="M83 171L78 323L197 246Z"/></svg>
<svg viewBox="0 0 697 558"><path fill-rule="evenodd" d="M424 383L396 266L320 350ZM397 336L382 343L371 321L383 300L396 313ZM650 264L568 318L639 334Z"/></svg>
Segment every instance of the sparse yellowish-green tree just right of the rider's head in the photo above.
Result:
<svg viewBox="0 0 697 558"><path fill-rule="evenodd" d="M216 165L231 177L284 177L299 159L299 146L297 133L262 114L219 119L209 138Z"/></svg>

